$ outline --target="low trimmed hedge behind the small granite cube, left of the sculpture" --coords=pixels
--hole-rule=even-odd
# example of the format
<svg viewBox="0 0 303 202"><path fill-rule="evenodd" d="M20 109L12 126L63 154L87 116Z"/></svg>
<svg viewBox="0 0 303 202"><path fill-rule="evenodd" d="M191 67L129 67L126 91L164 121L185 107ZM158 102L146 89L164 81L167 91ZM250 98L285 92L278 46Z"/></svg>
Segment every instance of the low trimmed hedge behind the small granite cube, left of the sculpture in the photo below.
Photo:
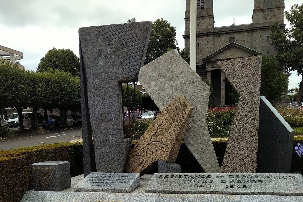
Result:
<svg viewBox="0 0 303 202"><path fill-rule="evenodd" d="M4 170L0 175L0 184L8 187L6 191L0 189L0 199L7 199L8 197L6 196L12 194L12 191L9 190L14 190L17 193L14 195L16 195L16 199L18 200L12 199L9 201L17 202L25 191L33 189L31 167L33 163L42 161L68 161L71 168L71 177L83 174L82 143L62 142L34 147L21 147L6 151L2 150L0 151L0 161L1 170ZM5 173L9 176L8 178L2 177L2 174ZM24 182L20 179L24 180Z"/></svg>

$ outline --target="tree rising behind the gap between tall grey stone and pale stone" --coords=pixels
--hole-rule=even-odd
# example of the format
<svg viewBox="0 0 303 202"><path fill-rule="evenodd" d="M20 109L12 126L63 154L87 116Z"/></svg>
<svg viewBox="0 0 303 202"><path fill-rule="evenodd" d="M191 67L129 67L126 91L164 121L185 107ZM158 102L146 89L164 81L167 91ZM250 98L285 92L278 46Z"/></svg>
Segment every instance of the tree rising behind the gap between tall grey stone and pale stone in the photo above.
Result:
<svg viewBox="0 0 303 202"><path fill-rule="evenodd" d="M168 21L163 18L157 19L152 23L145 64L148 64L172 49L176 49L179 52L180 49L177 45L176 28L171 26Z"/></svg>

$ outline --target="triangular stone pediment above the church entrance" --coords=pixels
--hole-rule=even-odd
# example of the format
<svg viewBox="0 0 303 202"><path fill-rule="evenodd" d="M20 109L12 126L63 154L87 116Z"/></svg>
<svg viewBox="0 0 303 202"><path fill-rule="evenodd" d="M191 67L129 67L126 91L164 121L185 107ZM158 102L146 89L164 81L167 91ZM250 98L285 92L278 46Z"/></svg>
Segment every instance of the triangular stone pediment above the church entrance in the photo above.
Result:
<svg viewBox="0 0 303 202"><path fill-rule="evenodd" d="M255 55L262 55L250 48L231 42L228 45L220 48L203 59L203 62L229 60L234 58L244 58Z"/></svg>

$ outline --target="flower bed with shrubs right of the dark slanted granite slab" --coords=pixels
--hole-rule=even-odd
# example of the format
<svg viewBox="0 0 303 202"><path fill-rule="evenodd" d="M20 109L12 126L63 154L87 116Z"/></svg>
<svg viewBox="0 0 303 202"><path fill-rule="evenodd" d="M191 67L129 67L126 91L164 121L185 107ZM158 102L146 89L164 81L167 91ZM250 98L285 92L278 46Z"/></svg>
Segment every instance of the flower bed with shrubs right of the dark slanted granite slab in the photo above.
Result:
<svg viewBox="0 0 303 202"><path fill-rule="evenodd" d="M303 126L303 109L301 107L290 108L276 105L275 108L291 127Z"/></svg>

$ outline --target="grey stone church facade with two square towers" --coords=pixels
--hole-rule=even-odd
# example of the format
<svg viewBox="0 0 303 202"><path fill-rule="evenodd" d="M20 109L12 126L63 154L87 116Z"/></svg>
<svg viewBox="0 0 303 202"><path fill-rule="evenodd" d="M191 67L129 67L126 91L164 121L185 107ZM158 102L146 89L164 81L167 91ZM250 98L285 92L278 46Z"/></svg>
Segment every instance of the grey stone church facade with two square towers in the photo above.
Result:
<svg viewBox="0 0 303 202"><path fill-rule="evenodd" d="M251 0L252 1L252 0ZM190 48L190 0L186 0L185 11L185 49ZM204 59L228 45L235 42L245 48L251 49L263 55L273 56L276 54L275 48L271 45L269 27L278 22L281 31L285 28L284 24L284 0L255 0L252 15L252 23L245 25L235 25L215 27L213 0L198 0L197 3L197 74L203 78L212 81L215 90L216 106L231 104L229 98L225 96L225 84L221 81L221 71L218 69L209 69ZM233 59L252 56L249 51L243 51L242 48L228 49L222 52L220 57L224 59ZM255 55L255 54L253 54ZM215 58L213 58L215 59ZM216 63L214 61L214 63ZM211 65L211 64L210 64ZM215 71L216 70L216 71ZM288 77L287 77L288 78ZM288 80L288 79L287 79ZM220 88L218 88L218 86ZM223 96L223 97L222 97Z"/></svg>

